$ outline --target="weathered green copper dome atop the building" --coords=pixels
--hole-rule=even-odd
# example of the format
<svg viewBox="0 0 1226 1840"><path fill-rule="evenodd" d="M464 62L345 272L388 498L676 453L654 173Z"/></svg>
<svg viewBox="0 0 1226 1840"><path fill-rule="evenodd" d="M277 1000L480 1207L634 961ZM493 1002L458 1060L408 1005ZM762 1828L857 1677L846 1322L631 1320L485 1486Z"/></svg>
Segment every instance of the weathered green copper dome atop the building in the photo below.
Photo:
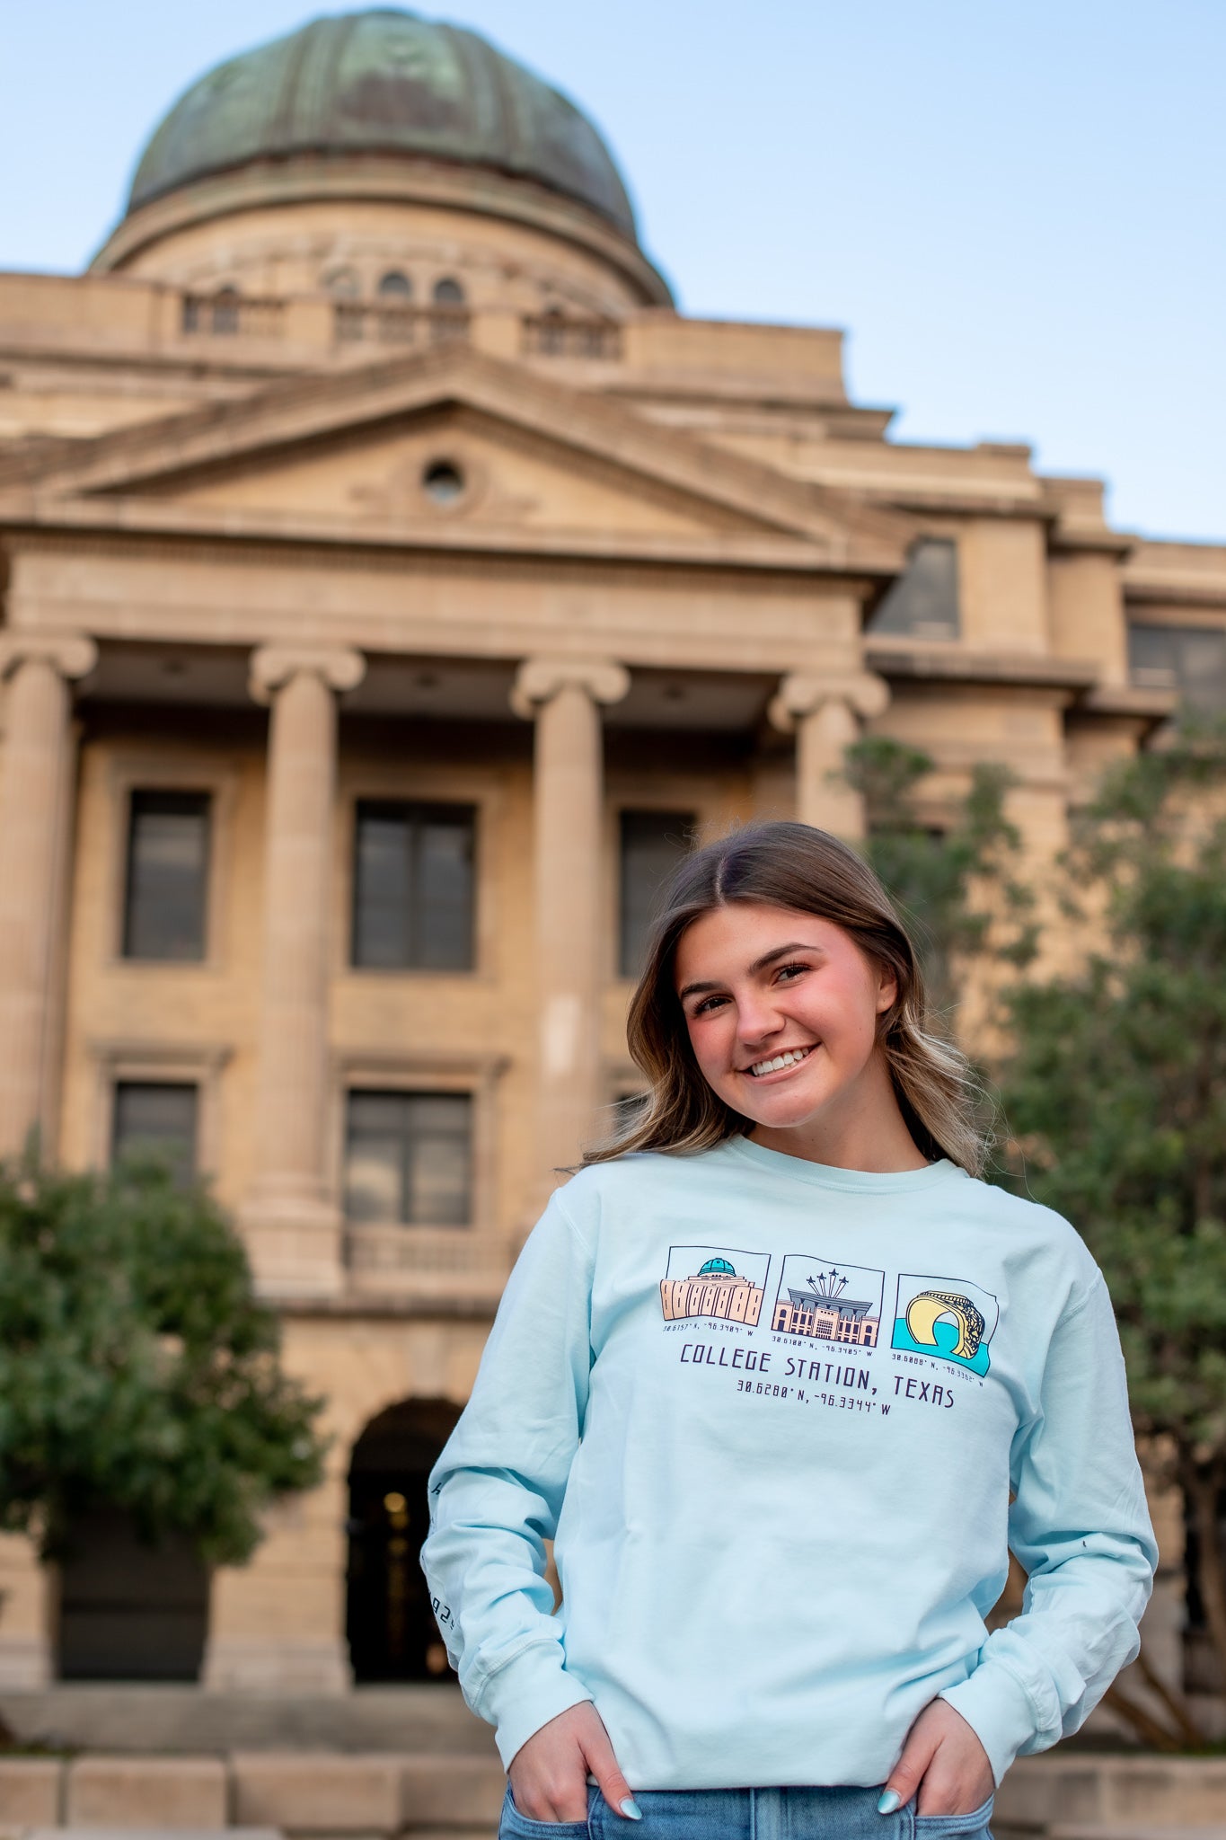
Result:
<svg viewBox="0 0 1226 1840"><path fill-rule="evenodd" d="M154 129L127 210L300 153L494 167L634 237L612 155L573 103L476 33L395 7L316 18L210 70Z"/></svg>

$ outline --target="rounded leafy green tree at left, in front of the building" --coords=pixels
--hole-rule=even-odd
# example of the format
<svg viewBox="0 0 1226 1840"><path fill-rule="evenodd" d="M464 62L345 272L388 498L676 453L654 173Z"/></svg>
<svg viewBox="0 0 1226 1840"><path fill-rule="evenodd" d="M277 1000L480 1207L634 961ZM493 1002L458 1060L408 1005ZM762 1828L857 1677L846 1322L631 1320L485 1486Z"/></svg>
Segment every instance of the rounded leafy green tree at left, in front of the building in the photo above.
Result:
<svg viewBox="0 0 1226 1840"><path fill-rule="evenodd" d="M278 1345L206 1190L156 1163L0 1165L0 1527L46 1557L105 1503L248 1558L261 1509L322 1474L322 1402Z"/></svg>

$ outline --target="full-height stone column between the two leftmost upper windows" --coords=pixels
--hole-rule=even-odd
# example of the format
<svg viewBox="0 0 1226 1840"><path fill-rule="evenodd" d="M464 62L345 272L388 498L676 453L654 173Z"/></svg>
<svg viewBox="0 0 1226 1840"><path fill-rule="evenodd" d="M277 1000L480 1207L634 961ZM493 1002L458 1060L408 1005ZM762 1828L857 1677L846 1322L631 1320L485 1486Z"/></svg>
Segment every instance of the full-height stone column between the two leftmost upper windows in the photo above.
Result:
<svg viewBox="0 0 1226 1840"><path fill-rule="evenodd" d="M342 1282L325 1156L336 692L364 672L344 648L261 646L252 657L252 696L270 719L257 1165L241 1224L267 1295Z"/></svg>

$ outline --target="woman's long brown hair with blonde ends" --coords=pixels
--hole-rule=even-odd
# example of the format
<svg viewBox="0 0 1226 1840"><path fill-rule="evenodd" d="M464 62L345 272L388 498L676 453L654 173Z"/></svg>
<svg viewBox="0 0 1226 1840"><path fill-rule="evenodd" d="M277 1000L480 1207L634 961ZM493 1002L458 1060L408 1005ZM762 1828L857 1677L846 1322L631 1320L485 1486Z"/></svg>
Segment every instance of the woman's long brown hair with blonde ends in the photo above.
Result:
<svg viewBox="0 0 1226 1840"><path fill-rule="evenodd" d="M689 1045L675 986L676 946L700 914L763 902L831 920L897 981L877 1040L906 1126L926 1157L948 1157L972 1176L983 1168L980 1087L971 1065L930 1029L915 948L868 863L811 824L746 824L695 850L675 870L647 942L647 964L630 1001L627 1041L647 1078L647 1100L610 1137L585 1150L607 1163L629 1150L709 1150L754 1128L708 1086Z"/></svg>

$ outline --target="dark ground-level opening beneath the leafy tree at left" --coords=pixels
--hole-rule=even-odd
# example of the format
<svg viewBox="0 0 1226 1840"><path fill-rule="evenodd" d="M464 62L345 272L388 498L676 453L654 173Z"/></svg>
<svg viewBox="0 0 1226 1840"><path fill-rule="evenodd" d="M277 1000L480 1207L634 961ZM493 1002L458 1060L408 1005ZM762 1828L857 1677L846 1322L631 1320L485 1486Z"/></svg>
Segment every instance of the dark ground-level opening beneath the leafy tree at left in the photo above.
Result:
<svg viewBox="0 0 1226 1840"><path fill-rule="evenodd" d="M199 1680L208 1582L184 1535L151 1546L121 1509L90 1509L59 1566L59 1678Z"/></svg>

